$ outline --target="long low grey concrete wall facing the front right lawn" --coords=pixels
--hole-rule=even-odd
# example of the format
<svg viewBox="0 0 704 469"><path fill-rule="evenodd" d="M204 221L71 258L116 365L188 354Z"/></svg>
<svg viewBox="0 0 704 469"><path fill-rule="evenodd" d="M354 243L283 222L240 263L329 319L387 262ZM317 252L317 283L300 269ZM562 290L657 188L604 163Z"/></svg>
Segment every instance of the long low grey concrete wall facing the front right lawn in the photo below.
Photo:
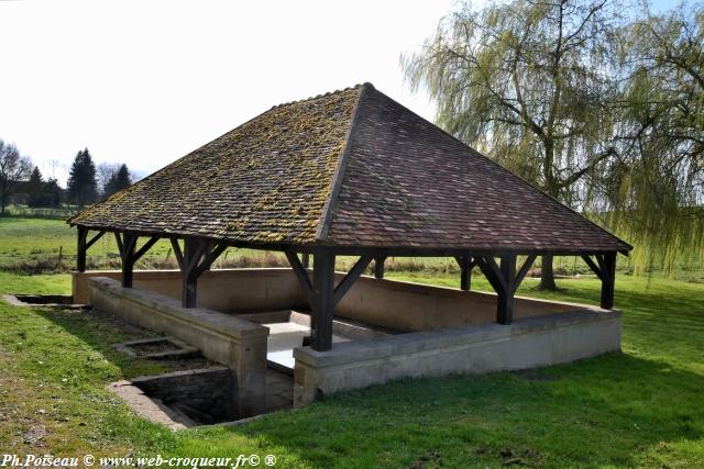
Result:
<svg viewBox="0 0 704 469"><path fill-rule="evenodd" d="M620 313L584 310L294 350L294 405L402 378L486 373L620 350Z"/></svg>

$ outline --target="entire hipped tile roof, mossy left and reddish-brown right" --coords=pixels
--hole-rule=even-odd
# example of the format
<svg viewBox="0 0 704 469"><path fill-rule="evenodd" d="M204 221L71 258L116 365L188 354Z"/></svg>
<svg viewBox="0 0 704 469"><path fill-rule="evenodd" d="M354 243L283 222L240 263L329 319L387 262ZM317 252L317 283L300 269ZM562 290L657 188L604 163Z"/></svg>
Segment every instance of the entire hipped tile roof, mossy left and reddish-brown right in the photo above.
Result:
<svg viewBox="0 0 704 469"><path fill-rule="evenodd" d="M275 107L69 222L240 243L630 249L369 83Z"/></svg>

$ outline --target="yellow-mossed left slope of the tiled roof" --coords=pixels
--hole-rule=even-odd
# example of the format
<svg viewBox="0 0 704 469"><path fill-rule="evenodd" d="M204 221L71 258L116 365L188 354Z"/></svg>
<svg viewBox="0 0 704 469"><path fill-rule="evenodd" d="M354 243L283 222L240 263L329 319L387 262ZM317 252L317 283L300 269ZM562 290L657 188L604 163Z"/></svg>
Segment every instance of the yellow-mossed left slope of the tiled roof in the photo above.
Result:
<svg viewBox="0 0 704 469"><path fill-rule="evenodd" d="M69 220L120 231L310 243L360 87L274 107Z"/></svg>

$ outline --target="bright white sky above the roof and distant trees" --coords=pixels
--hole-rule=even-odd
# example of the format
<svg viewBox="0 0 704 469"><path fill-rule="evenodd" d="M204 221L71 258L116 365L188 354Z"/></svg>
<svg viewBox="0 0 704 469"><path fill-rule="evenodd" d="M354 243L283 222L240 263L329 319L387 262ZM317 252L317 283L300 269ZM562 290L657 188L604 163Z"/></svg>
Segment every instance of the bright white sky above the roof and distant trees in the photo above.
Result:
<svg viewBox="0 0 704 469"><path fill-rule="evenodd" d="M364 81L431 120L399 56L453 5L0 1L0 138L64 183L85 147L146 176L272 105Z"/></svg>

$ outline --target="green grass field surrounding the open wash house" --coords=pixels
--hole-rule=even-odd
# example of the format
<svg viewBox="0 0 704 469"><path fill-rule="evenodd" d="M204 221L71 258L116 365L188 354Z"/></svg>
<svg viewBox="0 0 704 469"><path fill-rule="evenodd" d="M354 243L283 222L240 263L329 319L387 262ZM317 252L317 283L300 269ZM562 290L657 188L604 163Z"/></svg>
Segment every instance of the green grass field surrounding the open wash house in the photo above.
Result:
<svg viewBox="0 0 704 469"><path fill-rule="evenodd" d="M9 267L57 256L57 245L75 255L74 244L62 222L0 219L0 293L68 293L66 273L28 276ZM160 249L156 259L168 254L168 246ZM92 255L108 258L109 252ZM256 260L249 252L232 256ZM457 286L451 264L414 263L399 263L389 277ZM96 312L0 301L0 449L271 454L276 467L316 468L704 467L704 283L700 273L689 279L622 271L620 354L530 372L405 380L243 425L176 433L143 421L105 390L166 366L129 360L111 348L146 332ZM480 276L472 284L488 289ZM558 293L535 291L535 284L527 279L519 293L598 303L600 284L588 276L561 280Z"/></svg>

